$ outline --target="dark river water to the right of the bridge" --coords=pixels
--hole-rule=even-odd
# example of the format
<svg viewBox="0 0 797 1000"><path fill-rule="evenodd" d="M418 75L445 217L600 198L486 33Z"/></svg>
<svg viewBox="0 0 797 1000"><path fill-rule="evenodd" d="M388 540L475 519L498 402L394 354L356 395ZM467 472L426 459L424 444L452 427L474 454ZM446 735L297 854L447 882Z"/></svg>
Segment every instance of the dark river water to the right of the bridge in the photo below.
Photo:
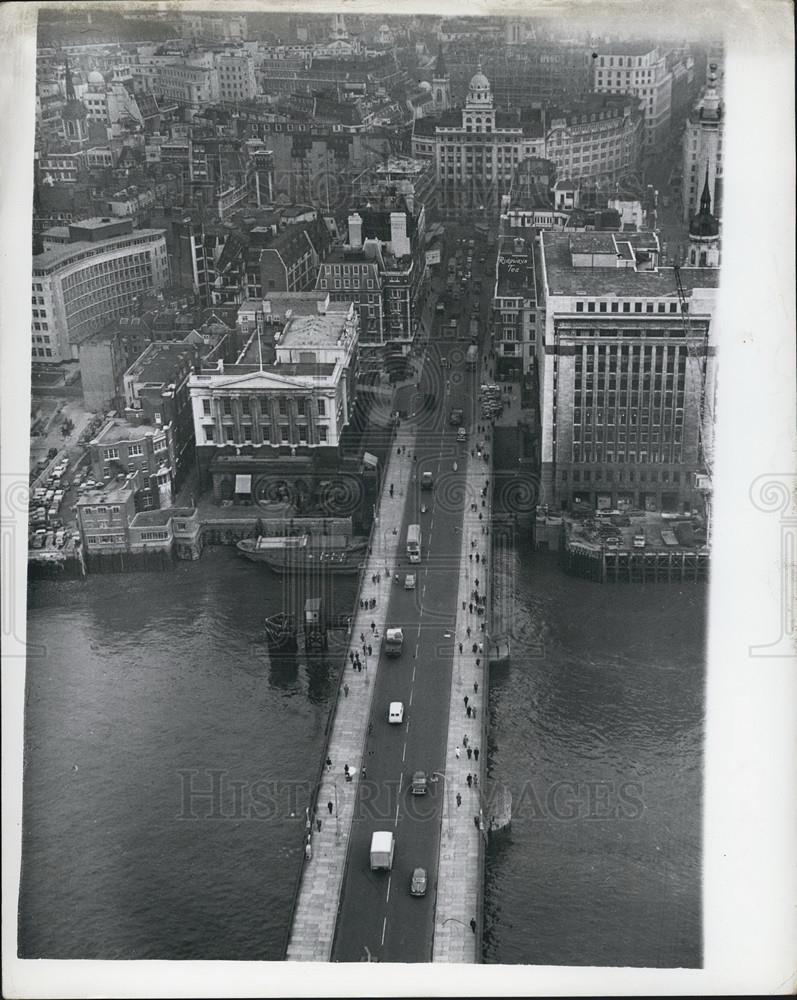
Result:
<svg viewBox="0 0 797 1000"><path fill-rule="evenodd" d="M513 811L485 960L699 966L707 588L596 584L524 550L494 566L516 606L489 775Z"/></svg>

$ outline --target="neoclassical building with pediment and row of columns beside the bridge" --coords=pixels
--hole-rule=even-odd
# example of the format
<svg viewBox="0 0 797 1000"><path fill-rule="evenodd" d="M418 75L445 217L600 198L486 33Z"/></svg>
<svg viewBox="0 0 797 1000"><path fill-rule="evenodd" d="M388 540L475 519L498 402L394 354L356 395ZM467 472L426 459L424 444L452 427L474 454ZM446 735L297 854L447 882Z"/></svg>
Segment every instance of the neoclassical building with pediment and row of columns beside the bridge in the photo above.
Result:
<svg viewBox="0 0 797 1000"><path fill-rule="evenodd" d="M278 333L267 300L263 307L236 364L189 380L200 484L212 485L217 502L276 501L296 489L311 496L317 476L340 464L356 405L353 303L297 295ZM263 364L268 346L275 357Z"/></svg>

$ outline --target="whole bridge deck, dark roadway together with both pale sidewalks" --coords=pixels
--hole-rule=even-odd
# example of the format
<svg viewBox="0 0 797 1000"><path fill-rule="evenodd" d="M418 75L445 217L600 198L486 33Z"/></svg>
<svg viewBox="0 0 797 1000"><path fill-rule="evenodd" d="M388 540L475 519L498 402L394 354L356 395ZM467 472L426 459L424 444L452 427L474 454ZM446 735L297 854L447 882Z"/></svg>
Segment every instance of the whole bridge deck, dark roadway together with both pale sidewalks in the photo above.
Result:
<svg viewBox="0 0 797 1000"><path fill-rule="evenodd" d="M374 655L365 657L364 674L346 663L347 683L340 692L328 747L332 763L318 791L318 831L313 829L308 838L310 853L294 908L286 954L292 961L478 961L481 838L473 817L479 811L480 793L475 789L471 793L465 777L468 771L482 775L484 757L476 764L466 760L463 751L459 760L455 745L460 731L468 732L472 745L481 744L483 738L486 742L486 713L472 722L465 719L462 705L463 693L473 694L474 681L481 685L478 700L486 704L486 662L479 666L470 648L464 653L458 648L460 641L464 648L467 625L478 631L475 613L464 610L479 572L467 560L468 540L473 537L475 544L479 534L478 514L469 504L489 473L489 463L482 465L481 458L471 457L471 449L483 445L485 436L476 433L481 372L467 372L464 366L470 316L468 297L463 299L455 307L456 331L449 326L450 308L446 315L435 317L419 386L399 390L400 409L422 412L402 421L395 444L404 446L404 454L391 455L387 467L374 551L363 579L362 596L375 595L377 608L356 616L351 636L351 650L357 651L361 631L369 632L373 621L376 633L366 641ZM482 323L485 306L483 302ZM443 339L446 334L448 340ZM428 396L433 398L431 406ZM465 445L457 444L456 430L449 426L452 407L464 410ZM407 450L415 451L416 461ZM435 473L433 494L418 490L425 469ZM390 481L394 495L389 492ZM466 489L470 490L467 504ZM425 514L420 514L422 502L429 507ZM489 508L485 516L489 519ZM405 545L406 526L412 521L421 523L424 537L422 562L410 567ZM390 581L386 562L400 565L401 586ZM410 568L417 579L414 593L403 589ZM374 584L371 574L376 571L382 577ZM389 660L381 647L384 628L392 624L403 625L405 647L401 658ZM386 721L391 700L405 702L401 726ZM353 782L343 780L344 762L354 772ZM420 768L433 779L430 791L411 796L409 778ZM458 789L462 808L454 805ZM370 871L370 834L378 829L397 834L390 874ZM409 895L415 866L425 867L429 874L429 891L423 899Z"/></svg>

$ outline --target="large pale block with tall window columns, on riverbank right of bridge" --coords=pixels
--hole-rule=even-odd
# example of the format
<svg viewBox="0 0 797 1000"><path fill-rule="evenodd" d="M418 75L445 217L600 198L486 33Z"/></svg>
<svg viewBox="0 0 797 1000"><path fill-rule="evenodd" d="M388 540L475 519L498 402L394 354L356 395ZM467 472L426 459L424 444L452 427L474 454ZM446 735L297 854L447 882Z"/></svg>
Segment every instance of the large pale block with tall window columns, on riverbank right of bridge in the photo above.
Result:
<svg viewBox="0 0 797 1000"><path fill-rule="evenodd" d="M551 507L698 502L716 378L719 270L682 268L688 323L655 233L540 238L542 489Z"/></svg>

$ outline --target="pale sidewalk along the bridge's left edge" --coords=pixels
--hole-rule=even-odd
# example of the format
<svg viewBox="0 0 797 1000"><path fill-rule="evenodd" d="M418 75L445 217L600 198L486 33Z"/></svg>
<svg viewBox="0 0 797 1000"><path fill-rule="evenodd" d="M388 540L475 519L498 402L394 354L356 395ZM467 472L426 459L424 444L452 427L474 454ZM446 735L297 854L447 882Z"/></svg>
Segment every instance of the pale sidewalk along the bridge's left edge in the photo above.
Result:
<svg viewBox="0 0 797 1000"><path fill-rule="evenodd" d="M328 962L332 954L354 803L360 769L366 761L365 743L373 682L379 664L390 588L393 586L391 570L396 565L404 502L412 481L411 456L415 450L415 433L413 425L399 428L386 464L379 517L374 524L372 546L359 594L362 599L375 598L376 607L373 610L358 608L352 624L327 747L331 767L328 766L323 773L316 814L308 818L311 856L305 861L302 872L288 941L288 961ZM399 447L401 455L396 451ZM394 485L392 497L391 482ZM377 574L379 580L374 582ZM368 644L371 645L371 653L367 652ZM350 652L359 654L362 671L354 669ZM353 775L351 781L346 780L346 765Z"/></svg>

